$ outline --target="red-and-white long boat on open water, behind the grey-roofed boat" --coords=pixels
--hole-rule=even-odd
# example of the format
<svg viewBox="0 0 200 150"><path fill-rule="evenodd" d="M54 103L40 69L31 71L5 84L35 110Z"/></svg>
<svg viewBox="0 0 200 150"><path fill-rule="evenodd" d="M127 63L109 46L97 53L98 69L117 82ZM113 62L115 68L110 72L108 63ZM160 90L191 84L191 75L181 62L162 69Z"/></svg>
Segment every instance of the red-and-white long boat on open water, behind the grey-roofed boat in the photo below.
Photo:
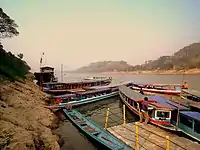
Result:
<svg viewBox="0 0 200 150"><path fill-rule="evenodd" d="M159 94L179 95L181 93L180 84L136 84L131 87L133 90L142 90Z"/></svg>

